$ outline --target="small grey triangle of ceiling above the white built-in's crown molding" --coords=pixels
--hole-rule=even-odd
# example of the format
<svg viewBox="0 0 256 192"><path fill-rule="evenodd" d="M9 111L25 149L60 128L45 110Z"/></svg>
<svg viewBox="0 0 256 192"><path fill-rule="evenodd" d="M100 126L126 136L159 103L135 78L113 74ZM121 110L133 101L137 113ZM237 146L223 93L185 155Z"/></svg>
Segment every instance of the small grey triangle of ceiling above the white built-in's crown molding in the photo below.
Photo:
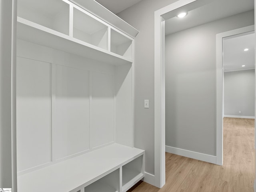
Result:
<svg viewBox="0 0 256 192"><path fill-rule="evenodd" d="M95 0L98 3L102 4L108 10L113 12L114 14L118 14L119 12L131 7L141 0Z"/></svg>

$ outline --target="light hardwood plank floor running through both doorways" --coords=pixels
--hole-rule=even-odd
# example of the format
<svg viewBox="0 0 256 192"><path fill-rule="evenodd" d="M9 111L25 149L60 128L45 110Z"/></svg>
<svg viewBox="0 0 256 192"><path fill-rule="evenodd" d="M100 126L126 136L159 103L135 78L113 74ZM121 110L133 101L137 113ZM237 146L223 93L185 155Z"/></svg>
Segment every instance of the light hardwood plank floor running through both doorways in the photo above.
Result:
<svg viewBox="0 0 256 192"><path fill-rule="evenodd" d="M253 192L254 119L224 118L223 166L166 153L166 184L128 192Z"/></svg>

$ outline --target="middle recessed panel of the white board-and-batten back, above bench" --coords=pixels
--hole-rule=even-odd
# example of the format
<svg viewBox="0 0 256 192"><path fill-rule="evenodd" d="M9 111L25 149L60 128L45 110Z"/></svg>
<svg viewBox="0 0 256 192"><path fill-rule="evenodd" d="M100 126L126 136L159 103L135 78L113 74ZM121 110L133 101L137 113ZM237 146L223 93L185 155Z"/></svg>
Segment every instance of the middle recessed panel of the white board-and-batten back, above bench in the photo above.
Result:
<svg viewBox="0 0 256 192"><path fill-rule="evenodd" d="M54 160L89 149L88 71L56 65L54 118L56 118L52 135Z"/></svg>

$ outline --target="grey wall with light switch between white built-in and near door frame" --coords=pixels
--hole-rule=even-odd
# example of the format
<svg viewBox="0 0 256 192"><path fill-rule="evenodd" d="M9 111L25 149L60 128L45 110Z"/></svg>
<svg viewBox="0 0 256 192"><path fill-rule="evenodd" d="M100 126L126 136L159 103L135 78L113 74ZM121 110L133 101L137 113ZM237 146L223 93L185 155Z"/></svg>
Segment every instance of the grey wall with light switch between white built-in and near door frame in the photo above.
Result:
<svg viewBox="0 0 256 192"><path fill-rule="evenodd" d="M142 0L118 16L140 32L135 38L135 147L146 151L146 172L154 174L154 11L177 0ZM150 108L144 108L149 99Z"/></svg>

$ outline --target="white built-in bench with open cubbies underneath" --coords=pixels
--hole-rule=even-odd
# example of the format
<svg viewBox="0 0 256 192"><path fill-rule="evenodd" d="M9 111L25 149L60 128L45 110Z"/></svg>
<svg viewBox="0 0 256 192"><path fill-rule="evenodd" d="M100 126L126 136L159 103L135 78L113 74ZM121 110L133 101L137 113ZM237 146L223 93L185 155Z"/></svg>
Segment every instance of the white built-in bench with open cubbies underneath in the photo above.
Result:
<svg viewBox="0 0 256 192"><path fill-rule="evenodd" d="M19 192L125 192L144 177L144 150L120 144L18 177Z"/></svg>

